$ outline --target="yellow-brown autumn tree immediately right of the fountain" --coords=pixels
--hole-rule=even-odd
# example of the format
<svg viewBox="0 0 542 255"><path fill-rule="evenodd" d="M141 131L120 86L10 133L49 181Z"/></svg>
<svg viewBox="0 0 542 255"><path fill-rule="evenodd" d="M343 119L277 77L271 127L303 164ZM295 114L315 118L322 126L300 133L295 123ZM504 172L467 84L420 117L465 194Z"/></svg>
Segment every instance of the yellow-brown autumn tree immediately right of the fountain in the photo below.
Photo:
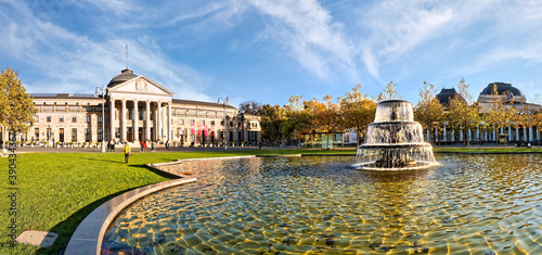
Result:
<svg viewBox="0 0 542 255"><path fill-rule="evenodd" d="M429 141L430 133L434 128L438 128L438 126L444 120L444 106L440 104L438 99L436 98L437 90L435 86L424 81L424 87L420 89L420 101L414 107L414 116L416 120L422 123L427 130L429 130ZM433 141L435 138L433 139Z"/></svg>

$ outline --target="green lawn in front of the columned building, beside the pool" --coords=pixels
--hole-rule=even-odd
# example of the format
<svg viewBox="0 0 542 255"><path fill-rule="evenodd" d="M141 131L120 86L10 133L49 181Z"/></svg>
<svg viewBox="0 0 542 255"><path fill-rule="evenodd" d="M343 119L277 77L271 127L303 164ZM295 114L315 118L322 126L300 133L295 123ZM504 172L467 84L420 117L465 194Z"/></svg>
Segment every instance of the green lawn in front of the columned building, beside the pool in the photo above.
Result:
<svg viewBox="0 0 542 255"><path fill-rule="evenodd" d="M124 164L121 153L26 153L17 154L17 231L44 230L60 233L51 248L17 244L9 247L9 161L0 158L0 254L59 254L79 222L100 204L130 189L168 180L146 167L147 163L177 158L254 154L352 153L325 150L261 150L227 152L134 153Z"/></svg>

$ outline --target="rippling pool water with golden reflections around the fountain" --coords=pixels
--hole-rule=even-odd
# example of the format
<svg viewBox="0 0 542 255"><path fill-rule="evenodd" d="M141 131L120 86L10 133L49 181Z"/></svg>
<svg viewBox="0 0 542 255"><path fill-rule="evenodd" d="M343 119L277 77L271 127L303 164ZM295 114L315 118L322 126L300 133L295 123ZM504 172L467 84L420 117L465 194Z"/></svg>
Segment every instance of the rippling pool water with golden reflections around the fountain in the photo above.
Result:
<svg viewBox="0 0 542 255"><path fill-rule="evenodd" d="M102 254L542 254L542 155L363 171L353 157L183 163L198 181L146 196Z"/></svg>

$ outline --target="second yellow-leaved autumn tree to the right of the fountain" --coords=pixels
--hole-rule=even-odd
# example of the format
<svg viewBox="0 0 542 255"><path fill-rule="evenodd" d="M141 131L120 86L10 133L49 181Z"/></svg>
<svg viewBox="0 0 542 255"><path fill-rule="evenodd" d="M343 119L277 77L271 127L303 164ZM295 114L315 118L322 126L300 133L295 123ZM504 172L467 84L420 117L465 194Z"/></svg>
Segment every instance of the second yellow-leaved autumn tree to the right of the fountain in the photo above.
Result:
<svg viewBox="0 0 542 255"><path fill-rule="evenodd" d="M469 104L472 102L472 95L468 92L468 84L465 84L465 79L461 78L457 85L459 94L450 100L450 105L448 106L448 120L455 127L459 127L463 132L463 145L468 146L467 131L478 127L480 123L480 117L478 115L479 106L477 103Z"/></svg>

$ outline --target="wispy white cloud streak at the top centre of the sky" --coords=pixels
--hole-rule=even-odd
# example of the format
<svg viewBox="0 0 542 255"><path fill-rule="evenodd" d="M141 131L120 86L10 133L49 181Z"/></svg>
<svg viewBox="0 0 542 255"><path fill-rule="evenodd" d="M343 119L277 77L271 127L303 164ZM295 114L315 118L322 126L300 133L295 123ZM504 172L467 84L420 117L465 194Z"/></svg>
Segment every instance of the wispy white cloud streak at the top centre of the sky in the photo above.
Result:
<svg viewBox="0 0 542 255"><path fill-rule="evenodd" d="M319 77L330 77L336 71L356 74L356 49L343 33L343 24L317 1L283 0L250 2L272 18L262 33L268 40L286 46L292 59Z"/></svg>

